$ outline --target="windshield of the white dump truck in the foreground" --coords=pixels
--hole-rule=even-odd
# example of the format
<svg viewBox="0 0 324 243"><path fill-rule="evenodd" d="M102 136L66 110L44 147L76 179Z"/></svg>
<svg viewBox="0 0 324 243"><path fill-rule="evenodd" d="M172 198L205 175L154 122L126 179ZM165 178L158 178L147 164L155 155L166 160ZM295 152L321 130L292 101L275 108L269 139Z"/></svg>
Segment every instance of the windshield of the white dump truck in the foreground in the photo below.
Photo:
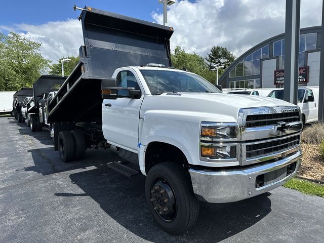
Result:
<svg viewBox="0 0 324 243"><path fill-rule="evenodd" d="M166 92L222 93L206 79L188 72L140 70L152 95Z"/></svg>

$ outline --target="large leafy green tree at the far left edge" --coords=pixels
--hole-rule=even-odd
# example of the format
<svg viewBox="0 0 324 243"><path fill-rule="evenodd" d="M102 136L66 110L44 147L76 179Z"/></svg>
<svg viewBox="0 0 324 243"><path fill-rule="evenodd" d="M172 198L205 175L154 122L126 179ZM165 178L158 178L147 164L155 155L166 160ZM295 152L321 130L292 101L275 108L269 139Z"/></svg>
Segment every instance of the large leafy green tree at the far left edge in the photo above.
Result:
<svg viewBox="0 0 324 243"><path fill-rule="evenodd" d="M31 87L50 65L39 52L41 43L21 35L0 32L0 91L17 91Z"/></svg>

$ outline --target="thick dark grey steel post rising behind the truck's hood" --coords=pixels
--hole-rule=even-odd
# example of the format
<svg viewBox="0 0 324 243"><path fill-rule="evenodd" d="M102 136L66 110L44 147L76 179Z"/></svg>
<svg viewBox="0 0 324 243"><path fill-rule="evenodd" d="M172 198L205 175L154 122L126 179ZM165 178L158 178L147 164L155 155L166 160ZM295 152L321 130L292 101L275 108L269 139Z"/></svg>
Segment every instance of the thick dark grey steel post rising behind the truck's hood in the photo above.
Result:
<svg viewBox="0 0 324 243"><path fill-rule="evenodd" d="M284 100L297 105L300 0L286 0Z"/></svg>

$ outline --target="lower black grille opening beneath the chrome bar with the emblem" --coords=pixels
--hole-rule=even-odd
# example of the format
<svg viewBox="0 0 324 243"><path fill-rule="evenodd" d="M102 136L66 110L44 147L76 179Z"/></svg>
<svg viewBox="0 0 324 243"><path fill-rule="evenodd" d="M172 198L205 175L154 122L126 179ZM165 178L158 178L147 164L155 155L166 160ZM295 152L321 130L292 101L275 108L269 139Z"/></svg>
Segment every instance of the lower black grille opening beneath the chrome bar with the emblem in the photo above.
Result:
<svg viewBox="0 0 324 243"><path fill-rule="evenodd" d="M299 144L300 135L292 136L289 138L282 138L279 140L263 143L251 144L246 146L247 158L262 156L287 150Z"/></svg>

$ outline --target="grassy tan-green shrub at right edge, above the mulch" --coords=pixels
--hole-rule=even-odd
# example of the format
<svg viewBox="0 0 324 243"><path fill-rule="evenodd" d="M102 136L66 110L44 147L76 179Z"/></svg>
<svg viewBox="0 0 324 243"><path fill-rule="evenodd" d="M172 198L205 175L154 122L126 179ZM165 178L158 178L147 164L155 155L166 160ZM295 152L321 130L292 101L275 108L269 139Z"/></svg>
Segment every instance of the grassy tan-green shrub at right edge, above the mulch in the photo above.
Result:
<svg viewBox="0 0 324 243"><path fill-rule="evenodd" d="M314 123L304 129L302 142L310 144L321 144L324 140L324 124Z"/></svg>

